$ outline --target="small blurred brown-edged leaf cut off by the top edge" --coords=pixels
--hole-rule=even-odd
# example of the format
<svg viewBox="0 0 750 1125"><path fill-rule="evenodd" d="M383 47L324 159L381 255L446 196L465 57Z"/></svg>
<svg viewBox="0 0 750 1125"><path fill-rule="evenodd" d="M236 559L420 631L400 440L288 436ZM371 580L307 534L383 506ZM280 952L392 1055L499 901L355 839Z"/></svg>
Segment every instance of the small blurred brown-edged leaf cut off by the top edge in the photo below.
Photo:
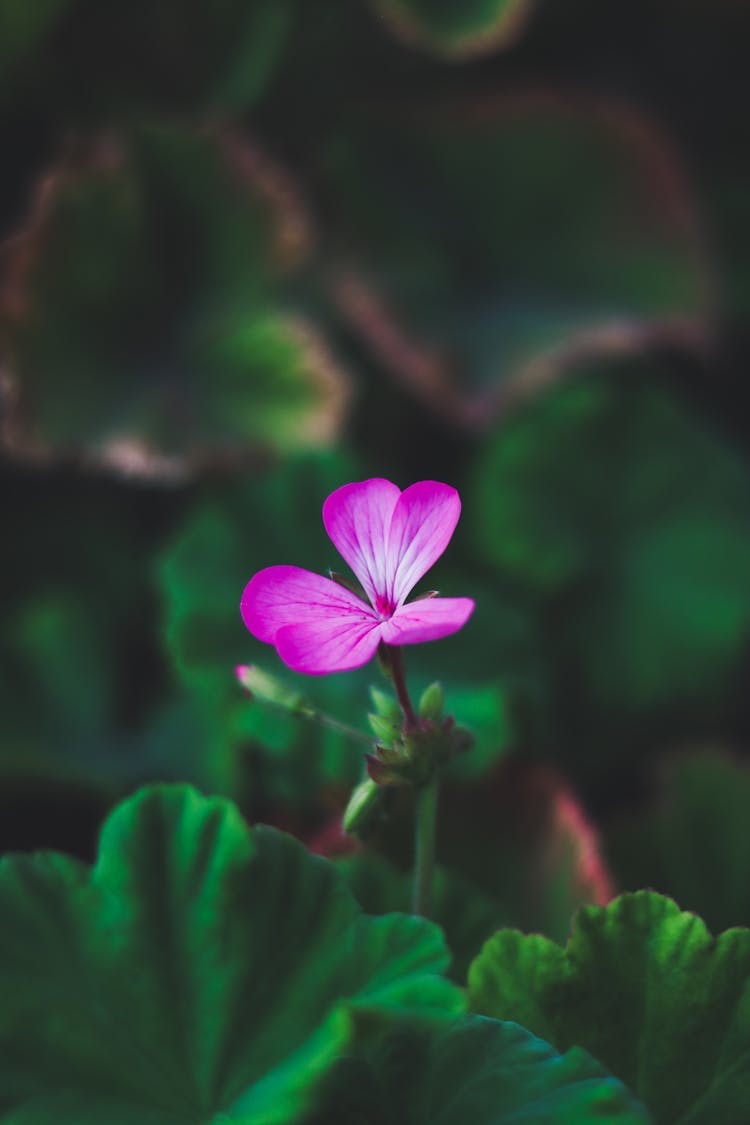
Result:
<svg viewBox="0 0 750 1125"><path fill-rule="evenodd" d="M489 53L512 43L532 0L371 0L394 32L448 57Z"/></svg>

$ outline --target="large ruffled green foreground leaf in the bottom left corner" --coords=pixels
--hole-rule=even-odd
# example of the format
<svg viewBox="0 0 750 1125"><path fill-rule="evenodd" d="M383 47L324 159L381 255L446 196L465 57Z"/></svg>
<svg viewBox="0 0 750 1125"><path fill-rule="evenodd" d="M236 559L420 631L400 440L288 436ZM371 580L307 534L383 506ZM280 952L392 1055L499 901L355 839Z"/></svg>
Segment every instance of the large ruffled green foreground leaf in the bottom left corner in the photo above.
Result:
<svg viewBox="0 0 750 1125"><path fill-rule="evenodd" d="M13 1125L282 1125L383 1014L461 1008L434 926L363 917L327 863L187 788L116 810L93 868L6 860L0 903Z"/></svg>

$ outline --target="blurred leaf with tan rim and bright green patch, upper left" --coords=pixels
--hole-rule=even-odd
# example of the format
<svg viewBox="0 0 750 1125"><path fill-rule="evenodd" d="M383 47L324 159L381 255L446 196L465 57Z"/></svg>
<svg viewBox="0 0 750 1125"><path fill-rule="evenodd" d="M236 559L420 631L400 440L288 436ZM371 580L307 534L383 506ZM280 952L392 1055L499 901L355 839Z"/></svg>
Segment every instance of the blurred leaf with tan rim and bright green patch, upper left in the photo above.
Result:
<svg viewBox="0 0 750 1125"><path fill-rule="evenodd" d="M6 448L173 478L326 446L347 382L281 294L308 235L226 130L134 128L57 169L7 263Z"/></svg>

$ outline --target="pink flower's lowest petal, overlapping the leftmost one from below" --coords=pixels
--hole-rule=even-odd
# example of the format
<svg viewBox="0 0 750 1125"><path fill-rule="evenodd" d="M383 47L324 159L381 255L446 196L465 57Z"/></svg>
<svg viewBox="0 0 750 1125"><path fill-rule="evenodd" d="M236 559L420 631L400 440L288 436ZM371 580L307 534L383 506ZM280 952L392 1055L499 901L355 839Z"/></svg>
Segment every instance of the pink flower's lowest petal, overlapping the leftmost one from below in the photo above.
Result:
<svg viewBox="0 0 750 1125"><path fill-rule="evenodd" d="M295 672L320 676L349 672L376 655L382 626L373 618L353 614L309 619L284 626L275 636L277 651Z"/></svg>

